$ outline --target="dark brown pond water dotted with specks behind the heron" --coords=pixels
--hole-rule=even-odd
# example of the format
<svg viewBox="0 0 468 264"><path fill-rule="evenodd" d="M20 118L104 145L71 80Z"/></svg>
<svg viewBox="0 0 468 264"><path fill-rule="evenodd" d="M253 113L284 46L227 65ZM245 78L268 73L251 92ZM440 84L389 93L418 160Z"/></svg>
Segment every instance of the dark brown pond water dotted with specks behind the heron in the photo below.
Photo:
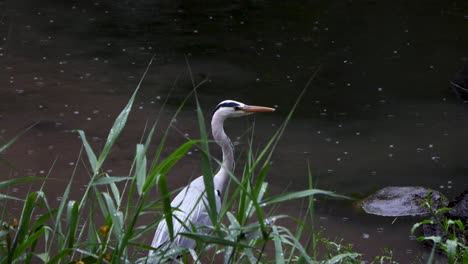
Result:
<svg viewBox="0 0 468 264"><path fill-rule="evenodd" d="M466 1L7 0L0 10L0 136L39 122L2 155L16 166L0 167L2 180L51 170L46 191L59 199L81 146L64 131L83 129L101 147L154 55L106 163L111 174L128 171L145 123L160 116L162 131L192 89L187 58L195 80L209 80L199 89L206 113L223 99L278 108L256 117L259 145L321 68L277 149L268 176L274 193L303 189L307 162L318 187L346 195L421 185L453 197L468 188L468 109L449 89L468 63ZM197 137L193 109L191 100L168 151L185 134ZM241 137L251 123L232 120L229 134ZM171 186L200 171L198 157L187 156ZM89 177L77 175L76 196ZM417 218L323 200L317 214L329 238L368 259L389 248L398 261L417 263L427 251L409 236Z"/></svg>

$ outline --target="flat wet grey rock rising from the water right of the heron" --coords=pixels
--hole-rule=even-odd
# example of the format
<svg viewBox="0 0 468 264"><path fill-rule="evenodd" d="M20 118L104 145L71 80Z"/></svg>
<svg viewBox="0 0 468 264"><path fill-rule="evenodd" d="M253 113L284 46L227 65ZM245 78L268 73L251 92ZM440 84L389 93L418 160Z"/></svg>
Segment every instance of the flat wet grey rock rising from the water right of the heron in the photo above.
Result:
<svg viewBox="0 0 468 264"><path fill-rule="evenodd" d="M438 191L423 187L385 187L361 202L361 207L369 214L381 216L428 215L424 205L427 195L431 195L434 210L447 205L447 199Z"/></svg>

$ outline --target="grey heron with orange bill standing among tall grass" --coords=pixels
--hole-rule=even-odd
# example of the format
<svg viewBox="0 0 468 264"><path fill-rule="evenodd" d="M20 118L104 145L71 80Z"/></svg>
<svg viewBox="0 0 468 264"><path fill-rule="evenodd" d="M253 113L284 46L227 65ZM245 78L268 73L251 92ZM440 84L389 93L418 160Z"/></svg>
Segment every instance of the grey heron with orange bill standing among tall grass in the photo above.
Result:
<svg viewBox="0 0 468 264"><path fill-rule="evenodd" d="M274 110L274 108L270 107L251 106L233 100L222 101L215 108L211 119L211 131L215 142L221 147L223 152L221 168L213 177L218 213L221 208L222 196L226 191L229 175L234 169L234 147L224 132L224 120L229 117L245 116L257 112L273 112ZM195 248L196 243L194 240L178 234L191 231L187 230L190 229L191 225L196 226L198 232L208 232L209 229L206 227L213 226L205 207L207 201L200 201L200 198L206 199L204 196L205 184L203 176L200 176L182 189L171 202L171 207L177 208L172 216L174 240L170 241L167 223L162 220L156 229L151 247L155 249L170 249L173 247ZM151 256L154 253L155 251L151 250L149 255Z"/></svg>

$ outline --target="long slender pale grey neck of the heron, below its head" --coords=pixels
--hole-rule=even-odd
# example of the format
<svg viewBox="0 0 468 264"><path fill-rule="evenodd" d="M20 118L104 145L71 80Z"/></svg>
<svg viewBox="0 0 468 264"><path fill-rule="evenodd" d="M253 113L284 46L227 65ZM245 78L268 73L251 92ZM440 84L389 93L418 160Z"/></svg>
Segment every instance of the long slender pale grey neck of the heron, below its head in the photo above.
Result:
<svg viewBox="0 0 468 264"><path fill-rule="evenodd" d="M224 132L224 118L222 116L214 115L211 120L211 131L213 132L213 138L223 150L223 162L221 169L214 176L214 186L216 190L221 191L224 195L226 185L228 183L229 174L234 169L234 149L229 140L228 136Z"/></svg>

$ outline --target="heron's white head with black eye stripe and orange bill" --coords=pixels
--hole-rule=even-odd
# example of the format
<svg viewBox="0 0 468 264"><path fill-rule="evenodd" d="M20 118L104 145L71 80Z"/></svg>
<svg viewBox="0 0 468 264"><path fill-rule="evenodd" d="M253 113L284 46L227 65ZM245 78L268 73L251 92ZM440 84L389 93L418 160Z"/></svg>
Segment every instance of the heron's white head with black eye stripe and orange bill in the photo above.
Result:
<svg viewBox="0 0 468 264"><path fill-rule="evenodd" d="M216 106L213 115L220 115L224 118L250 115L259 112L273 112L274 108L265 106L246 105L234 100L225 100Z"/></svg>

